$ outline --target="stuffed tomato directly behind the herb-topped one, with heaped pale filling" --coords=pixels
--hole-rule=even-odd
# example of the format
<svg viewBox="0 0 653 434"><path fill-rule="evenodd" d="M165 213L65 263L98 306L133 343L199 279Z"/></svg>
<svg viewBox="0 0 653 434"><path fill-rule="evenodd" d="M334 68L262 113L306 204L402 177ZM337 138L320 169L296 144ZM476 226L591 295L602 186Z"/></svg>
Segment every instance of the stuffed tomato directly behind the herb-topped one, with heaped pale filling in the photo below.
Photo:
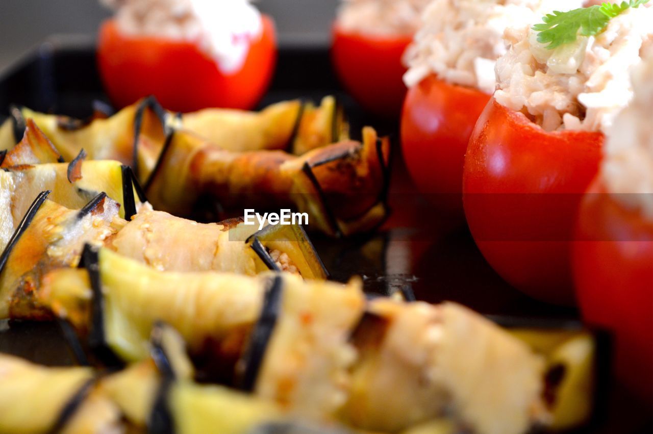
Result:
<svg viewBox="0 0 653 434"><path fill-rule="evenodd" d="M464 155L494 92L494 65L507 50L503 31L532 22L542 10L564 10L566 3L436 0L424 11L406 51L401 139L413 181L438 208L462 219Z"/></svg>

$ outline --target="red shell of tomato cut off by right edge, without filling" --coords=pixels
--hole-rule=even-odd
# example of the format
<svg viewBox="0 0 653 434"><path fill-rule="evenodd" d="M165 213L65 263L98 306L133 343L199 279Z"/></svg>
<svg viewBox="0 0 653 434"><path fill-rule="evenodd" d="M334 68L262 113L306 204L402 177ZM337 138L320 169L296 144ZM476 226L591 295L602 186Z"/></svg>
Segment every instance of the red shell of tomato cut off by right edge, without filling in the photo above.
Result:
<svg viewBox="0 0 653 434"><path fill-rule="evenodd" d="M573 275L584 320L614 333L618 378L653 401L653 223L597 179L584 197Z"/></svg>

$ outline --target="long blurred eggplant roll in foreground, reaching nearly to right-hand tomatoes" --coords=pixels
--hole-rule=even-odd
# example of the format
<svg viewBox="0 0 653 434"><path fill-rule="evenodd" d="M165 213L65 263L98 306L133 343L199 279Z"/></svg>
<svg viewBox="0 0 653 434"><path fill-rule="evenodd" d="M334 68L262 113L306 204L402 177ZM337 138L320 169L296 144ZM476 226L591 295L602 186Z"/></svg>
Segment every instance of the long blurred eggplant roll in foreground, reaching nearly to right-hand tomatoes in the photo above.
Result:
<svg viewBox="0 0 653 434"><path fill-rule="evenodd" d="M397 432L447 416L518 434L575 426L591 406L560 407L592 402L588 335L558 335L541 354L455 303L366 302L358 281L162 272L106 249L88 249L85 264L48 273L39 296L89 347L142 360L161 320L187 342L199 378L309 420Z"/></svg>

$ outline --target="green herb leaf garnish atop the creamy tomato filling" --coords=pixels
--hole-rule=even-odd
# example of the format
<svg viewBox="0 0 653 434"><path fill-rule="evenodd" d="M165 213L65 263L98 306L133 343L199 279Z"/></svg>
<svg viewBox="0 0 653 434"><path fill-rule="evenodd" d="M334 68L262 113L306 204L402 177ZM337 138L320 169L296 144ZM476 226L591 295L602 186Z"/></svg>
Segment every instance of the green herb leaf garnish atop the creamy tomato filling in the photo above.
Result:
<svg viewBox="0 0 653 434"><path fill-rule="evenodd" d="M542 18L543 23L535 24L533 30L539 31L537 40L548 44L553 50L564 44L575 42L579 35L594 36L607 27L611 18L620 15L628 8L636 8L648 3L648 0L623 1L621 4L603 3L588 8L579 8L567 12L554 11Z"/></svg>

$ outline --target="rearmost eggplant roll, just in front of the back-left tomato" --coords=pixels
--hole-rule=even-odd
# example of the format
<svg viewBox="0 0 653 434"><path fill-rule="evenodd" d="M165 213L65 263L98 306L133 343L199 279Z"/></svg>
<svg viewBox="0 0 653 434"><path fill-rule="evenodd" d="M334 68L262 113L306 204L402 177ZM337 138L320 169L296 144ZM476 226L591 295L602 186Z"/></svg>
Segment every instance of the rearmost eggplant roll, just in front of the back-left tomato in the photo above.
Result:
<svg viewBox="0 0 653 434"><path fill-rule="evenodd" d="M113 159L132 166L144 182L153 169L166 140L167 126L183 127L208 142L231 151L287 149L304 153L348 137L349 127L333 97L325 97L321 106L301 101L284 101L261 112L207 109L175 116L153 98L136 102L114 116L95 117L80 122L65 116L33 112L28 108L12 110L0 134L0 149L10 149L20 137L25 119L32 119L65 161L71 161L82 149L90 159ZM8 131L17 131L8 134Z"/></svg>

